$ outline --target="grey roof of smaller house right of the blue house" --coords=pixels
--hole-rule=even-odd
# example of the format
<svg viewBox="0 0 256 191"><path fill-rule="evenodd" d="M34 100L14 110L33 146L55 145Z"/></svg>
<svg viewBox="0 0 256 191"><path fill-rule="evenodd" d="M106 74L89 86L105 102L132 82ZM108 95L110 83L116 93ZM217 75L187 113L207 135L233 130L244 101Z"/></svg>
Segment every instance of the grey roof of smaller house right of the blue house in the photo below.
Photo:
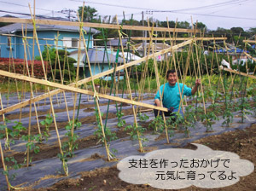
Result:
<svg viewBox="0 0 256 191"><path fill-rule="evenodd" d="M106 53L104 55L104 50L100 50L100 49L89 49L88 56L90 59L90 63L108 63L108 60L110 63L115 62L115 55L108 53L108 57L107 57ZM86 55L84 55L82 61L83 62L86 61L87 63ZM124 62L123 59L119 57L118 63L123 63L123 62Z"/></svg>

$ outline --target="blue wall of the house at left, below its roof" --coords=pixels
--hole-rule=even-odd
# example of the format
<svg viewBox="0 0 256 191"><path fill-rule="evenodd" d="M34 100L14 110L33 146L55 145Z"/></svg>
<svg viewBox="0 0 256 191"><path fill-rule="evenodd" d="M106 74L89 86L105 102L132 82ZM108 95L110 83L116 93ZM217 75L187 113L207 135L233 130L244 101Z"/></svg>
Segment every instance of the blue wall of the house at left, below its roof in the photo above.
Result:
<svg viewBox="0 0 256 191"><path fill-rule="evenodd" d="M55 39L55 37L57 36L57 32L56 31L38 31L38 38L51 38L51 39ZM17 36L22 36L21 32L17 32L16 33ZM26 32L26 37L32 37L33 36L33 32ZM79 38L79 32L59 32L59 38L58 39L63 39L63 38ZM84 35L85 39L88 39L88 35ZM90 37L91 39L92 37ZM32 60L32 51L33 51L33 40L32 39L26 39L27 43L29 44L29 46L26 46L26 55L28 60ZM10 54L11 56L13 56L14 58L18 58L18 59L24 59L24 45L22 42L22 38L20 37L11 37L11 42L12 45L11 47L8 46L8 37L7 36L1 36L1 53L0 56L3 58L9 58ZM53 47L55 47L55 41L54 40L43 40L43 39L39 39L38 40L39 44L40 44L40 50L41 52L44 51L44 46L46 44L52 45ZM87 44L86 44L87 45ZM89 48L91 48L93 45L92 41L90 41L89 43ZM65 47L63 46L63 41L58 41L58 49L65 49ZM73 50L77 50L77 49L67 49L67 51L73 51ZM34 55L38 56L39 55L39 51L38 51L38 44L35 42L34 44Z"/></svg>

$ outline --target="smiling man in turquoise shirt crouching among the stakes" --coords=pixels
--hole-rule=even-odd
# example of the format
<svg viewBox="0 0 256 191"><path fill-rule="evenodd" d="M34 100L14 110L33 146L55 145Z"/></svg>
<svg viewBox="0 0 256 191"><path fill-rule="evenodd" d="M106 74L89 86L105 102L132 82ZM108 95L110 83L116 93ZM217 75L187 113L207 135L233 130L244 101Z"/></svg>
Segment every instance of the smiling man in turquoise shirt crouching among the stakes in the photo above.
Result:
<svg viewBox="0 0 256 191"><path fill-rule="evenodd" d="M181 107L179 106L179 103L180 103L180 94L182 93L182 90L183 90L183 95L185 96L194 95L195 92L197 91L198 86L201 84L201 79L195 80L195 86L192 90L191 88L187 87L185 84L179 83L180 92L177 87L177 73L175 72L175 70L172 69L167 71L166 79L168 82L165 84L165 89L164 89L164 84L162 84L160 86L160 92L162 96L163 107L166 107L169 110L169 112L165 112L165 115L171 116L172 112L177 112L178 107ZM164 94L162 94L163 89L164 89ZM154 97L154 103L158 107L161 107L160 92L158 90L157 94ZM182 108L180 108L180 113L183 115ZM160 114L160 116L162 115L161 112L154 109L154 116L156 117L158 114Z"/></svg>

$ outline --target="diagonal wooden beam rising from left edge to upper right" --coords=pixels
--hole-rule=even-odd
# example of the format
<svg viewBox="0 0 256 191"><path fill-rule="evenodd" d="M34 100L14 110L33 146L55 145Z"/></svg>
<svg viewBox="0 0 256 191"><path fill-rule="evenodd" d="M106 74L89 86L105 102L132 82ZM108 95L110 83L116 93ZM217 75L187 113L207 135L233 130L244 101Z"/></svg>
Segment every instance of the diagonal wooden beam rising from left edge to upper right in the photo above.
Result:
<svg viewBox="0 0 256 191"><path fill-rule="evenodd" d="M171 51L172 49L175 50L175 49L178 49L180 47L183 47L189 43L192 43L193 40L189 40L189 41L186 41L186 42L183 42L183 43L178 43L177 45L171 47L171 48L168 48L168 49L162 49L160 52L157 52L157 53L154 53L152 55L147 55L143 58L141 58L140 60L138 61L131 61L129 63L126 64L126 67L132 67L140 62L143 62L143 61L147 61L148 59L150 58L154 58L155 56L158 56L158 55L162 55L162 54L165 54L166 52L169 52ZM122 65L122 66L119 66L116 68L116 72L122 70L122 69L125 69L125 65ZM96 74L95 76L93 76L94 79L96 78L101 78L103 76L106 76L108 74L111 74L113 73L113 68L112 69L109 69L108 71L105 71L105 72L102 72L102 73L99 73L99 74ZM0 73L1 75L1 73ZM87 82L90 82L92 80L91 77L89 78L84 78L82 80L80 80L78 83L73 83L73 84L69 84L68 86L79 86L79 85L82 85L82 84L85 84ZM40 101L40 100L43 100L45 98L47 98L49 95L50 96L54 96L56 94L59 94L61 93L63 90L59 89L59 90L53 90L53 91L50 91L49 93L45 93L44 95L41 95L41 96L36 96L30 100L26 100L26 101L21 101L20 103L17 103L13 106L9 106L9 107L5 107L4 109L0 110L0 114L3 114L3 113L9 113L11 111L14 111L15 109L19 109L21 107L26 107L26 105L30 104L31 102L34 103L34 102L37 102L37 101Z"/></svg>

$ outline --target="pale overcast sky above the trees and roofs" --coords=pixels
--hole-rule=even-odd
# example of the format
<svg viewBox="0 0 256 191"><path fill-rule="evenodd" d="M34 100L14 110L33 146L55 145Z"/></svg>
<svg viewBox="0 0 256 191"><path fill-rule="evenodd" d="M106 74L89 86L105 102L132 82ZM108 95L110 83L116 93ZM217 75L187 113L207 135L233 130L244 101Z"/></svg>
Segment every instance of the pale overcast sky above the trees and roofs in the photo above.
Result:
<svg viewBox="0 0 256 191"><path fill-rule="evenodd" d="M24 14L30 14L28 3L33 0L0 0L0 16L12 14L20 18L28 18ZM154 20L166 21L177 20L191 23L202 22L208 29L216 30L218 27L230 29L231 27L242 27L247 31L250 27L256 27L256 0L90 0L84 2L85 6L93 7L102 18L118 15L119 20L131 19L142 20L152 17ZM61 11L75 16L79 6L83 6L82 0L36 0L36 14L45 16L61 16ZM192 19L191 19L192 18Z"/></svg>

